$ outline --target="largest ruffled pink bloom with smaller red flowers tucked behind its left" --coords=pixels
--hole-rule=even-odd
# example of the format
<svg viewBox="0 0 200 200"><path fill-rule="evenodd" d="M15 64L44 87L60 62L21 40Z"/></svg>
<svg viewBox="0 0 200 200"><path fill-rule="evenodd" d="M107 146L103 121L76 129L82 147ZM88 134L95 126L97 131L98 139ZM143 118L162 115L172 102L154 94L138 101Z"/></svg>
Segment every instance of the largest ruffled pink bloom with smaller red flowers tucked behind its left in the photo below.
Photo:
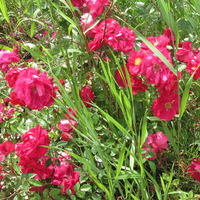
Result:
<svg viewBox="0 0 200 200"><path fill-rule="evenodd" d="M35 68L11 68L6 80L13 89L10 98L14 105L27 105L30 109L41 110L44 106L52 105L56 98L52 78Z"/></svg>

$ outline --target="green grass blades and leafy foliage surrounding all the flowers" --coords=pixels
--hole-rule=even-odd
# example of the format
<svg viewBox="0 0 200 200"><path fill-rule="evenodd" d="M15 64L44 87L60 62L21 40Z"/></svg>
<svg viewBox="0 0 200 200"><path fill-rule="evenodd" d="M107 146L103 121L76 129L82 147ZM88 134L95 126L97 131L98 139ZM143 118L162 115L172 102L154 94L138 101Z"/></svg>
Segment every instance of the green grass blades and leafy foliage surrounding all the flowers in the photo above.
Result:
<svg viewBox="0 0 200 200"><path fill-rule="evenodd" d="M17 44L24 63L25 59L33 58L34 62L28 65L51 74L60 91L55 105L43 108L41 112L17 106L14 117L0 125L1 133L11 134L13 142L17 143L22 133L37 124L48 130L55 126L49 131L52 140L49 154L54 156L57 151L67 152L80 173L80 183L76 184L74 195L70 195L70 190L67 191L69 196L63 195L59 187L50 184L42 193L30 192L31 187L42 186L43 181L33 179L34 174L21 175L16 164L17 157L10 156L13 168L11 171L8 169L6 191L0 192L2 199L184 200L198 195L199 184L193 182L190 185L192 179L188 178L186 171L189 159L197 157L200 151L197 130L199 83L193 81L193 76L188 78L184 75L183 81L179 81L182 96L179 116L173 121L163 122L153 117L150 111L155 90L149 88L145 94L133 95L131 87L120 88L116 84L114 72L126 63L126 55L103 47L102 51L110 59L104 61L101 56L94 57L89 51L88 38L79 24L81 13L70 1L0 0L0 9L0 17L3 17L0 28L4 34L0 37L5 37L6 42L0 49L8 49L12 42L22 40L22 44ZM121 19L122 24L135 31L138 37L136 43L143 41L175 75L180 66L174 68L145 38L162 34L169 26L177 38L172 53L176 53L179 41L186 37L198 47L199 14L198 0L118 0L114 1L112 13L116 19ZM34 37L44 30L48 31L46 36L41 39ZM51 38L57 30L60 32ZM17 33L18 38L8 33ZM89 81L87 72L92 75ZM59 79L66 80L64 86ZM5 84L0 83L1 98L7 97L9 92ZM95 91L95 102L91 103L91 108L86 108L79 96L82 86L87 84ZM131 85L130 81L128 85ZM190 94L190 90L194 94ZM60 141L61 131L57 125L64 118L64 113L69 112L67 108L77 109L74 119L78 127L74 127L72 141ZM147 161L141 155L144 153L142 146L147 136L157 131L168 136L169 149L156 161ZM0 142L3 142L3 137ZM183 158L181 151L184 152ZM182 159L184 166L180 168ZM46 166L50 164L51 159Z"/></svg>

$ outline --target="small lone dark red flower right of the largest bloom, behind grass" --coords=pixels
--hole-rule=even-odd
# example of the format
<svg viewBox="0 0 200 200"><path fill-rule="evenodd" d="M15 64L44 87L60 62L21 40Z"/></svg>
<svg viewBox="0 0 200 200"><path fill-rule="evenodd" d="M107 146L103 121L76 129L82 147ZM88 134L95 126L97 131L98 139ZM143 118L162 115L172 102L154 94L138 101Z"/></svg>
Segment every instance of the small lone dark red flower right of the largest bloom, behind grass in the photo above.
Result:
<svg viewBox="0 0 200 200"><path fill-rule="evenodd" d="M89 86L83 87L83 89L80 91L80 97L86 107L92 106L90 105L90 103L94 101L94 92L92 91L92 88Z"/></svg>

